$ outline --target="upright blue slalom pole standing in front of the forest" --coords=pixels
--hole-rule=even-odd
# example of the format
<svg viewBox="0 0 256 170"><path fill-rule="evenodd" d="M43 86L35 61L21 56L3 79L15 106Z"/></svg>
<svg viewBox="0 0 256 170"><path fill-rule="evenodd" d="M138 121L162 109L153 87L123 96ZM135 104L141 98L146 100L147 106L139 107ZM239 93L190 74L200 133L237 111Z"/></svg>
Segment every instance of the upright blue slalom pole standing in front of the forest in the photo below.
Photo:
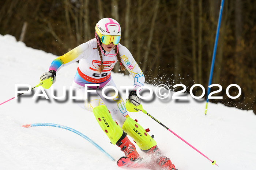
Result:
<svg viewBox="0 0 256 170"><path fill-rule="evenodd" d="M212 61L211 61L211 71L210 71L210 77L209 77L209 82L208 82L208 90L207 90L207 99L206 99L206 107L204 114L207 114L207 108L208 108L208 95L210 94L210 85L211 85L211 80L212 80L212 74L213 74L213 69L214 69L214 62L215 62L215 56L216 56L216 50L217 50L217 44L218 44L218 38L219 38L219 28L221 26L221 16L222 16L222 11L223 11L223 5L224 5L224 0L221 0L221 7L219 10L219 19L218 19L218 25L217 25L217 31L216 31L216 36L215 36L215 43L214 43L214 49L213 49L213 54L212 54Z"/></svg>

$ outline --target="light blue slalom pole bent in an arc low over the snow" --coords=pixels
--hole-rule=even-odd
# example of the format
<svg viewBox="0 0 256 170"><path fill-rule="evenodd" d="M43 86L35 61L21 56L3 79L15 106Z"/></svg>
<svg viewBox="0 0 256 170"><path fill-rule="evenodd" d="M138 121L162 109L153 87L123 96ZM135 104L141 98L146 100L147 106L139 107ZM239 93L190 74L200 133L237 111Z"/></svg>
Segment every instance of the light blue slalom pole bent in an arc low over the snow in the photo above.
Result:
<svg viewBox="0 0 256 170"><path fill-rule="evenodd" d="M103 150L97 143L95 143L93 140L91 140L90 138L88 138L86 135L80 133L79 131L72 129L70 127L67 126L63 126L60 124L54 124L54 123L33 123L33 124L25 124L22 127L34 127L34 126L53 126L53 127L59 127L62 129L66 129L69 130L71 132L74 132L75 134L78 134L79 136L83 137L84 139L86 139L87 141L89 141L91 144L93 144L95 147L97 147L102 153L104 153L107 157L109 157L112 161L115 161L114 158L112 158L105 150Z"/></svg>

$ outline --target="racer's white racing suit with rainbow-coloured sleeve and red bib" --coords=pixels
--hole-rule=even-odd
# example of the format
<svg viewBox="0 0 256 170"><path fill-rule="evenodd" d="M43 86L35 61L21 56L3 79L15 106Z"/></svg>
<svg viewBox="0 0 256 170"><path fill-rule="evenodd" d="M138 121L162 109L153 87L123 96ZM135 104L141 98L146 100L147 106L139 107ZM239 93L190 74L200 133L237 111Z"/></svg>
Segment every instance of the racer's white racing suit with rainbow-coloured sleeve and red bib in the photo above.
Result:
<svg viewBox="0 0 256 170"><path fill-rule="evenodd" d="M144 75L140 70L140 67L134 60L131 52L119 43L118 52L120 53L122 64L133 76L134 90L144 85ZM115 54L114 50L106 52L106 54ZM120 127L123 126L126 118L129 117L125 108L125 102L118 94L114 99L106 99L102 96L101 91L106 86L116 87L113 79L111 78L111 70L117 62L116 56L106 56L102 54L104 69L101 73L97 70L101 65L101 59L97 49L97 40L91 39L86 43L74 48L67 52L63 56L60 56L53 60L49 70L59 71L61 67L67 66L79 60L78 69L72 84L76 96L84 97L84 84L100 84L99 87L89 86L88 90L96 90L96 93L90 93L90 97L85 100L84 103L80 103L79 106L83 109L93 111L94 107L100 105L106 105L109 109L113 120L115 120ZM112 95L113 96L113 95Z"/></svg>

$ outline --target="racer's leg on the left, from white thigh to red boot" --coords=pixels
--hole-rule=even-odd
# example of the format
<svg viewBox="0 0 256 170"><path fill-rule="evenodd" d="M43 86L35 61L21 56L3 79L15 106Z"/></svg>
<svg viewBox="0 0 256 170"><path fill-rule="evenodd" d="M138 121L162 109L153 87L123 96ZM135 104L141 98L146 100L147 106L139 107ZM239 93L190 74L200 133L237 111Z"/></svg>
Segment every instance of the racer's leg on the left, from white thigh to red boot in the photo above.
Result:
<svg viewBox="0 0 256 170"><path fill-rule="evenodd" d="M84 98L84 87L73 83L73 89L75 91L76 96L82 96ZM90 89L92 90L92 89ZM99 93L100 94L100 93ZM136 159L140 158L140 155L135 149L133 143L128 139L127 134L121 129L120 126L116 123L112 114L106 107L105 102L101 99L102 96L99 96L96 92L90 93L88 95L88 99L84 99L83 103L79 103L79 106L83 109L92 111L94 116L104 131L104 133L108 136L112 144L116 144L121 148L121 150L125 153L125 156L129 159L135 161ZM114 104L114 107L118 107L117 103ZM112 104L110 104L112 106ZM111 107L112 108L112 107ZM112 113L117 114L118 108L113 108ZM118 111L120 111L118 109ZM126 111L127 112L127 111ZM127 114L128 115L128 114ZM120 112L115 116L119 121L125 122L125 116ZM123 120L124 119L124 120ZM121 123L123 125L123 123Z"/></svg>

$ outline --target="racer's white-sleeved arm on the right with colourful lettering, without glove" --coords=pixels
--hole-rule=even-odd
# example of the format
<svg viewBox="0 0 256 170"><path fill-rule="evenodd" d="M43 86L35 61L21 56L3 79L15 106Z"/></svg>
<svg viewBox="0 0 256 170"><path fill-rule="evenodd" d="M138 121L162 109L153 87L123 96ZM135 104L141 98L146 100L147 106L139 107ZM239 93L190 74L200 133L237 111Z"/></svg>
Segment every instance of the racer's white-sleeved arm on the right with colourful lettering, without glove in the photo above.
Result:
<svg viewBox="0 0 256 170"><path fill-rule="evenodd" d="M119 53L123 65L134 78L133 86L135 88L133 90L137 91L139 87L144 85L144 74L140 69L138 63L136 63L135 59L133 58L131 52L121 44L119 46Z"/></svg>

